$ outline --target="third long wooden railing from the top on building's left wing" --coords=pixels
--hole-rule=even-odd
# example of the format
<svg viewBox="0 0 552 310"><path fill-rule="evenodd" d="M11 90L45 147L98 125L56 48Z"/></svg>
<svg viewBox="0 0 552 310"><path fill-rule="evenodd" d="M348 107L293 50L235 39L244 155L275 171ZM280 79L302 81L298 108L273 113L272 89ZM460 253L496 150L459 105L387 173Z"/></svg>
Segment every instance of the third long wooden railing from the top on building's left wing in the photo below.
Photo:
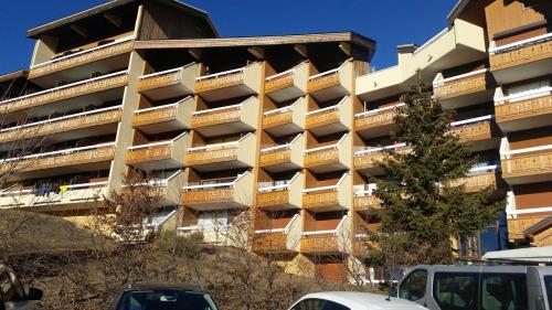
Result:
<svg viewBox="0 0 552 310"><path fill-rule="evenodd" d="M43 137L92 126L118 122L121 114L121 106L116 106L4 128L0 130L0 142L15 141L22 137Z"/></svg>

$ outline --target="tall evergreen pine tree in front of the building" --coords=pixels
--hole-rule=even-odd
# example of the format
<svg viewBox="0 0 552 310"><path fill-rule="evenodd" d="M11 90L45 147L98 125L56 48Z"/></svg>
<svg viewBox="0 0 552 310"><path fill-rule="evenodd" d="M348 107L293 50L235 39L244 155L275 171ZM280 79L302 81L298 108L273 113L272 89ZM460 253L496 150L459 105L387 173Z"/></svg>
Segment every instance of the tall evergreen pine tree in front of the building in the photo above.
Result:
<svg viewBox="0 0 552 310"><path fill-rule="evenodd" d="M374 265L391 267L415 264L450 264L453 238L484 229L498 217L503 201L490 200L491 189L466 193L454 180L465 178L476 159L468 146L449 131L454 115L432 98L422 83L405 95L397 109L397 129L392 139L407 151L385 150L379 162L386 177L370 178L382 201L376 212L381 226L370 234ZM393 265L393 266L389 266Z"/></svg>

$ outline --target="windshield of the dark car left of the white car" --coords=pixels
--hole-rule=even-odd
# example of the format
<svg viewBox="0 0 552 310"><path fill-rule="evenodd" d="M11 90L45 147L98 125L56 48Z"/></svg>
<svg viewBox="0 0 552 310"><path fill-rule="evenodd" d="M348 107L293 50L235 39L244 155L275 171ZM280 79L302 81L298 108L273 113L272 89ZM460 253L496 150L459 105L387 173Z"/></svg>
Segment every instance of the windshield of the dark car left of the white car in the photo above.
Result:
<svg viewBox="0 0 552 310"><path fill-rule="evenodd" d="M117 310L217 310L217 308L206 293L155 289L125 292Z"/></svg>

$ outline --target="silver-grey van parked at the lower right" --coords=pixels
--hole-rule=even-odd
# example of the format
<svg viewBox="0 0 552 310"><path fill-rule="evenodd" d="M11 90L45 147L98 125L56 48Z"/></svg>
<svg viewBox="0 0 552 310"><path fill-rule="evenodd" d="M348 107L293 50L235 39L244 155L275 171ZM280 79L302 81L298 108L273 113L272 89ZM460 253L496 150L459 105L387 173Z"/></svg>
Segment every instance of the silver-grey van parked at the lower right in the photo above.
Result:
<svg viewBox="0 0 552 310"><path fill-rule="evenodd" d="M431 310L552 310L552 267L422 265L396 292Z"/></svg>

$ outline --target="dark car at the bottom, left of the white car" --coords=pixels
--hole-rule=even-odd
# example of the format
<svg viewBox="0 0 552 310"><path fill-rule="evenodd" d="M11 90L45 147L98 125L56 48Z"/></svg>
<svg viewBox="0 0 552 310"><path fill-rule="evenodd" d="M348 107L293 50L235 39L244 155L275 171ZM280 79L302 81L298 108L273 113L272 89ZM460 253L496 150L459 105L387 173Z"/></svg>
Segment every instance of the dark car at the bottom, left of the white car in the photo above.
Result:
<svg viewBox="0 0 552 310"><path fill-rule="evenodd" d="M213 299L189 285L130 284L109 310L219 310Z"/></svg>

